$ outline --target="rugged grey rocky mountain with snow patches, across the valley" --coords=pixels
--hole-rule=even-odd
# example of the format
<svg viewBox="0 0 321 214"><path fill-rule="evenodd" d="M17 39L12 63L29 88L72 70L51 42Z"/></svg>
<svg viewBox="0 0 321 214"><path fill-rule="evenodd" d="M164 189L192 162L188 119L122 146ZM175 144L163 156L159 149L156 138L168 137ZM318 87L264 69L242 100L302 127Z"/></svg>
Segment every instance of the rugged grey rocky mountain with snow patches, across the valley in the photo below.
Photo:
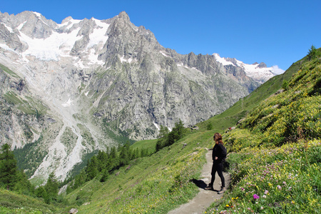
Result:
<svg viewBox="0 0 321 214"><path fill-rule="evenodd" d="M235 59L165 49L125 12L61 24L0 13L0 63L1 144L39 148L33 178L54 170L64 179L119 136L156 138L161 125L206 120L264 81Z"/></svg>

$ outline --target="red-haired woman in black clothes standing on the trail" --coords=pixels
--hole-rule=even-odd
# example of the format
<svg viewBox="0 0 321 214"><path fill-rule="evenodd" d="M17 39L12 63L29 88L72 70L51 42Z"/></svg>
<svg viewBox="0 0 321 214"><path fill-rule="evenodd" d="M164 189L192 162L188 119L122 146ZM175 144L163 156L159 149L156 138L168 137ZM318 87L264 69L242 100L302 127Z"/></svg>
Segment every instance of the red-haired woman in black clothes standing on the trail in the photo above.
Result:
<svg viewBox="0 0 321 214"><path fill-rule="evenodd" d="M225 161L226 158L226 149L223 146L222 136L220 133L215 133L213 136L213 140L215 141L215 145L213 147L213 166L212 166L212 179L210 180L210 183L205 188L205 190L214 190L213 183L215 180L215 173L218 172L218 176L220 176L220 180L222 182L222 187L218 191L218 194L222 194L225 192L225 178L223 176L223 161Z"/></svg>

